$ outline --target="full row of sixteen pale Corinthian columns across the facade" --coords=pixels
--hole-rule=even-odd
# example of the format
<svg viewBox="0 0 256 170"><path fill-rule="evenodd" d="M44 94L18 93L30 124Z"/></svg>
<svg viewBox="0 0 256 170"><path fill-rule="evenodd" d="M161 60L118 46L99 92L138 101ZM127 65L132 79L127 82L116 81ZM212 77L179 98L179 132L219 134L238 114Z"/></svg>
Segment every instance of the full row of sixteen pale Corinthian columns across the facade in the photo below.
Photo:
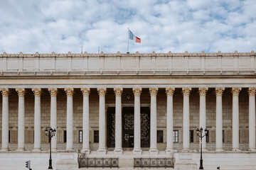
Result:
<svg viewBox="0 0 256 170"><path fill-rule="evenodd" d="M65 88L67 95L67 143L66 149L73 150L73 88ZM140 146L141 130L140 130L140 95L142 88L133 88L134 93L134 154L142 154ZM158 88L149 88L151 96L151 110L150 110L150 154L158 154L156 147L156 95ZM174 150L173 130L174 130L174 111L173 111L173 96L175 88L166 88L167 95L167 111L166 111L166 153ZM222 96L225 88L215 88L216 94L216 151L223 151L223 109ZM239 100L238 96L241 88L233 87L233 150L238 151L239 148ZM25 89L17 88L18 93L18 149L23 151L25 149ZM32 89L35 95L35 113L34 113L34 151L41 150L41 89ZM57 88L49 88L50 92L50 127L57 128ZM89 95L90 88L81 88L83 95L83 111L82 111L82 152L90 152L89 145ZM98 152L106 153L106 115L105 115L105 94L106 88L98 88L100 96L99 106L99 148ZM208 88L201 87L198 89L200 94L200 127L206 128L206 92ZM255 91L256 88L249 88L249 149L255 150ZM114 152L122 153L122 88L114 88L115 94L115 148ZM182 88L183 93L183 150L188 151L189 147L189 95L191 88ZM8 151L9 149L9 89L1 89L2 93L2 145L1 151ZM56 137L52 139L52 149L57 150ZM202 149L206 149L206 139L203 140Z"/></svg>

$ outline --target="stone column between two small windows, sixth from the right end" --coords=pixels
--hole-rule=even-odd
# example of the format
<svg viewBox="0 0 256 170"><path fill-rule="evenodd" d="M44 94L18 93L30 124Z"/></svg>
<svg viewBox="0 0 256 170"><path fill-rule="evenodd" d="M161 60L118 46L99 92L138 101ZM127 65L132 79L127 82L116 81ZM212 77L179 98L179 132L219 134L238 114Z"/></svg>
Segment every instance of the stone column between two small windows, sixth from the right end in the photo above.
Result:
<svg viewBox="0 0 256 170"><path fill-rule="evenodd" d="M166 113L166 154L174 151L174 107L173 96L175 88L166 88L167 113Z"/></svg>

